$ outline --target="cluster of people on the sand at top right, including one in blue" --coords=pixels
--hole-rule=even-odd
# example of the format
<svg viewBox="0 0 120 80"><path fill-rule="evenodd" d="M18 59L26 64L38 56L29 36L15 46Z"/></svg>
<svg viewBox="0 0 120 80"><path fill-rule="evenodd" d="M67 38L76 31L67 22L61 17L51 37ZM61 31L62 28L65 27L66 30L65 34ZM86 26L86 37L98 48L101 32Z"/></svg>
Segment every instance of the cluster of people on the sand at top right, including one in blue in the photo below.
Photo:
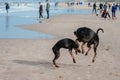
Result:
<svg viewBox="0 0 120 80"><path fill-rule="evenodd" d="M95 12L97 16L99 14L101 14L101 17L106 19L107 16L109 18L111 18L111 16L110 16L110 10L111 10L112 19L115 20L115 19L117 19L117 17L116 17L117 7L120 7L120 4L116 5L115 3L113 3L112 7L111 7L111 4L108 4L108 2L105 2L105 4L100 3L98 8L97 8L96 2L95 2L93 4L92 13Z"/></svg>

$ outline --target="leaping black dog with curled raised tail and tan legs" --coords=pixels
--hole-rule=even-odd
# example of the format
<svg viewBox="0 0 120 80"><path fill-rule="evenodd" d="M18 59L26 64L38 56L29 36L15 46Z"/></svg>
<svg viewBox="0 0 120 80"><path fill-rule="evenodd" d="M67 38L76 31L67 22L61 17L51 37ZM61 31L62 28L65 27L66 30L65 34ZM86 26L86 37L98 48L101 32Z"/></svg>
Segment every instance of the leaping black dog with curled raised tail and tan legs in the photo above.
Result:
<svg viewBox="0 0 120 80"><path fill-rule="evenodd" d="M78 28L75 32L74 32L74 35L76 35L77 39L79 42L83 42L83 44L81 45L81 49L82 49L82 53L84 54L84 49L83 49L83 46L85 43L87 43L87 47L88 47L88 51L86 52L85 55L88 54L88 52L90 51L91 49L91 45L93 44L93 48L94 48L94 57L92 59L92 62L95 61L95 57L97 55L96 53L96 50L97 50L97 47L99 45L99 36L98 36L98 32L99 30L101 30L102 32L103 29L99 28L97 30L97 32L94 32L93 30L91 30L90 28L87 28L87 27L81 27L81 28Z"/></svg>

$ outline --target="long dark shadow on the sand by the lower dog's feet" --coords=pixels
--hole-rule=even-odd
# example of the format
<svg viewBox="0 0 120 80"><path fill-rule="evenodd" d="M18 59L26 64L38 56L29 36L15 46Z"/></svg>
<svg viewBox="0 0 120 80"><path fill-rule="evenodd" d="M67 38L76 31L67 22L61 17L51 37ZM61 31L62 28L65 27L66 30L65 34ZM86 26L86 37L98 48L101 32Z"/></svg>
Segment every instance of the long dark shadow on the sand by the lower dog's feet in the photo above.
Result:
<svg viewBox="0 0 120 80"><path fill-rule="evenodd" d="M13 63L21 64L21 65L27 65L27 66L41 66L41 67L46 67L46 68L56 68L52 62L46 61L46 60L39 60L39 61L29 61L29 60L13 60ZM59 63L60 68L62 67L81 67L81 65L77 64L63 64Z"/></svg>

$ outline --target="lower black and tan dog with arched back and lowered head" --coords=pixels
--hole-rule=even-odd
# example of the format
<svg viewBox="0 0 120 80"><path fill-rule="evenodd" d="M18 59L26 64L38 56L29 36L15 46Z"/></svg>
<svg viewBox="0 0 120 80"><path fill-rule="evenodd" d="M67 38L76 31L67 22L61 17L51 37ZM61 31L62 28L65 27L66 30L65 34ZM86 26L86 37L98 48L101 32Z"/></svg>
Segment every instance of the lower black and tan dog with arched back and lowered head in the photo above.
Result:
<svg viewBox="0 0 120 80"><path fill-rule="evenodd" d="M62 39L60 41L58 41L52 48L53 52L54 52L54 59L53 59L53 64L56 66L56 67L59 67L57 64L56 64L56 60L60 57L60 49L61 48L65 48L65 49L68 49L69 50L69 53L73 59L73 62L76 63L75 61L75 58L72 54L72 49L75 50L76 54L77 52L80 52L79 50L79 44L75 41L73 41L72 39L69 39L69 38L65 38L65 39Z"/></svg>

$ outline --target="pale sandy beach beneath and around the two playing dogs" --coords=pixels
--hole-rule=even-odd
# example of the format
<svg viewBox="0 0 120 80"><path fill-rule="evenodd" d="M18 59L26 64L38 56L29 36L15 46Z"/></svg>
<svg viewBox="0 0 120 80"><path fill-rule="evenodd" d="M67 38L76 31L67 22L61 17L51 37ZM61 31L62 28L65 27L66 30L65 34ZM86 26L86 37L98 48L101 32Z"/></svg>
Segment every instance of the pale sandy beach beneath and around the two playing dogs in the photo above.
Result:
<svg viewBox="0 0 120 80"><path fill-rule="evenodd" d="M104 30L104 33L99 32L100 43L95 63L92 63L93 49L87 56L74 54L75 64L68 50L61 49L61 56L57 60L60 68L56 68L52 63L54 54L51 48L62 38L75 40L73 32L84 26L94 31L98 28ZM50 17L39 24L19 27L56 37L0 39L0 80L120 80L119 11L117 20L105 20L95 14L64 14Z"/></svg>

